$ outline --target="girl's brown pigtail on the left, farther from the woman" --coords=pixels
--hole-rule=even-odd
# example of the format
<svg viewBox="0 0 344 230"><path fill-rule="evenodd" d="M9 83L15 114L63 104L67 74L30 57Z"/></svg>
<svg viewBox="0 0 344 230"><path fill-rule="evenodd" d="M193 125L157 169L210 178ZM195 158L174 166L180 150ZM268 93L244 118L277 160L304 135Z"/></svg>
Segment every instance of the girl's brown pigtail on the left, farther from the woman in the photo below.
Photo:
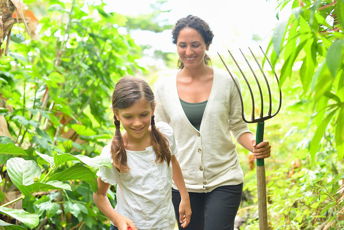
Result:
<svg viewBox="0 0 344 230"><path fill-rule="evenodd" d="M124 148L122 134L119 129L121 123L119 120L117 120L115 115L114 119L116 131L111 141L111 157L118 172L128 172L129 167L127 166L127 152Z"/></svg>

